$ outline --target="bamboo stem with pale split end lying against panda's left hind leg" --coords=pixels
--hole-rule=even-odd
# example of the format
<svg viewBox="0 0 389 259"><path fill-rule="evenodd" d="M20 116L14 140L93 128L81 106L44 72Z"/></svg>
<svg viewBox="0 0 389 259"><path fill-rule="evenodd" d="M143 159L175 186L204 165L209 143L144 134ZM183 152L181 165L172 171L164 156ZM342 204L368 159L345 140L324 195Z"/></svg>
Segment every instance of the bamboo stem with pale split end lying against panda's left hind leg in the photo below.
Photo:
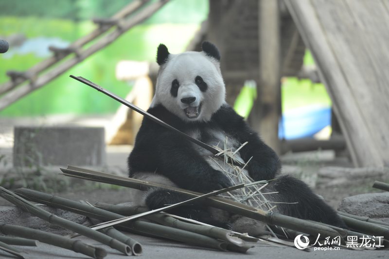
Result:
<svg viewBox="0 0 389 259"><path fill-rule="evenodd" d="M121 215L135 215L147 211L147 208L145 207L120 206L120 205L107 204L103 202L97 202L95 206L97 208L112 211ZM176 218L173 218L171 216L164 215L162 213L147 215L145 218L157 222L164 226L176 227L197 234L220 239L231 244L241 245L241 246L246 245L242 239L235 237L235 234L233 234L231 231L221 227L202 226L202 225L187 223L178 220ZM247 246L249 245L247 244Z"/></svg>

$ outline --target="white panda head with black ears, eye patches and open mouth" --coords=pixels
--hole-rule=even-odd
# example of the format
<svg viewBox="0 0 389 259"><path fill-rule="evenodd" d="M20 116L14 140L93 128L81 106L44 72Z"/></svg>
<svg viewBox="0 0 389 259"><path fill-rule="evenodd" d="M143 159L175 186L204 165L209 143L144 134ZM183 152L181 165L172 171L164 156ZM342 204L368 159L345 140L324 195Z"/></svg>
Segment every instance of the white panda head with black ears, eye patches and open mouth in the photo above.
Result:
<svg viewBox="0 0 389 259"><path fill-rule="evenodd" d="M165 45L157 51L159 72L151 106L163 105L186 122L206 122L225 102L220 54L209 42L202 51L171 54Z"/></svg>

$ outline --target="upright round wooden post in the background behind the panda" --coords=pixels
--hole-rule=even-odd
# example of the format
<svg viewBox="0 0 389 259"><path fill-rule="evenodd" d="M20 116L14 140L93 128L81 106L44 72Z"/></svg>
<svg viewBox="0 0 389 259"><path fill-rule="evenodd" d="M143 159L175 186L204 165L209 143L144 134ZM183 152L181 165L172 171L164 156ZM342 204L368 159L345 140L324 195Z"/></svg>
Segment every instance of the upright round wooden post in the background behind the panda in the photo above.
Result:
<svg viewBox="0 0 389 259"><path fill-rule="evenodd" d="M280 153L278 122L280 93L280 13L278 0L259 0L259 84L258 99L250 114L251 126L267 145Z"/></svg>

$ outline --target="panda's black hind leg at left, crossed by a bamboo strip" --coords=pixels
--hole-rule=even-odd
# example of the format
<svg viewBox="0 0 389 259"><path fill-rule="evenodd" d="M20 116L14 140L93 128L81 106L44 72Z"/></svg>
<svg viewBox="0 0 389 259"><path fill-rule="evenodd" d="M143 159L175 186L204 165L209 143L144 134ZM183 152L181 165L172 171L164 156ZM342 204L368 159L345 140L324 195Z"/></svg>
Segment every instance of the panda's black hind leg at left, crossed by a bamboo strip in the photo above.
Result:
<svg viewBox="0 0 389 259"><path fill-rule="evenodd" d="M145 203L150 210L159 209L171 204L179 203L190 199L190 196L179 194L174 191L167 191L163 189L155 189L147 194ZM231 229L228 221L215 217L206 206L195 202L184 204L177 208L170 209L166 212L175 214L180 217L200 221L215 227L223 227Z"/></svg>

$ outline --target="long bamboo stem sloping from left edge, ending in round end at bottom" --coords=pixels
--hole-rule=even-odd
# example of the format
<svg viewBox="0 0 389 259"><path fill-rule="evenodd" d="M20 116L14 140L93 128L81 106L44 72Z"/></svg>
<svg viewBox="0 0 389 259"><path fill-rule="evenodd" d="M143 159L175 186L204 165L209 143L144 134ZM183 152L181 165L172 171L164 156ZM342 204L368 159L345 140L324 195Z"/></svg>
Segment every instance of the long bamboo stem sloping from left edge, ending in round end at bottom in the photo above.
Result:
<svg viewBox="0 0 389 259"><path fill-rule="evenodd" d="M83 225L80 225L80 224L77 224L74 222L71 222L70 220L58 217L55 214L52 214L46 210L43 210L43 209L35 206L31 202L25 200L24 198L18 196L17 194L15 194L11 191L8 191L7 189L5 189L3 187L0 187L0 195L3 198L5 198L6 200L8 200L8 201L12 202L13 204L15 204L16 206L18 206L20 209L27 210L31 214L33 214L33 215L35 215L43 220L46 220L47 222L50 222L53 225L72 230L72 231L77 232L81 235L84 235L88 238L91 238L91 239L96 240L98 242L104 243L104 244L112 247L113 249L116 249L116 250L124 253L125 255L130 255L130 253L131 253L131 248L128 245L126 245L126 244L124 244L116 239L113 239L111 237L108 237L107 235L100 233L96 230L90 229L88 227L85 227Z"/></svg>

